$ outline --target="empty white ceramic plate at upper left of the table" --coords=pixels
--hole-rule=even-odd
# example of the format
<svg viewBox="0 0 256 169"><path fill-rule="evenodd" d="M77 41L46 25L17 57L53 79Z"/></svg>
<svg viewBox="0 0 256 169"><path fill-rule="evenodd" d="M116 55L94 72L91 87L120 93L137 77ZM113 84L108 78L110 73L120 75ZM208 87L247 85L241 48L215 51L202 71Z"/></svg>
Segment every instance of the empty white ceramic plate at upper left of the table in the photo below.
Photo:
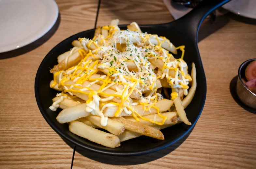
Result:
<svg viewBox="0 0 256 169"><path fill-rule="evenodd" d="M54 0L0 0L0 53L28 45L54 25Z"/></svg>

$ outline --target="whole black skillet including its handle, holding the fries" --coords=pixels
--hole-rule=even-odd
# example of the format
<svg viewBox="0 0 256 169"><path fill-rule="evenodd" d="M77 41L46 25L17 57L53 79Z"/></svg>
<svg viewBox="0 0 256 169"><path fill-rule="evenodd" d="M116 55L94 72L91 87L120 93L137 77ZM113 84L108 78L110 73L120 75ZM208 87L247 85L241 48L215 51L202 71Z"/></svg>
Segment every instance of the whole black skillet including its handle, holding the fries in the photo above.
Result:
<svg viewBox="0 0 256 169"><path fill-rule="evenodd" d="M176 21L158 24L158 25L141 25L143 32L158 34L165 36L175 45L185 45L184 60L188 64L188 71L191 71L192 62L195 63L197 69L197 89L195 96L186 108L186 113L192 125L185 123L176 124L172 127L165 128L162 131L165 140L157 140L154 138L141 136L121 143L120 147L108 148L93 143L87 139L77 136L68 130L68 124L60 124L55 119L60 109L52 111L49 107L52 105L52 98L56 96L57 91L49 87L50 81L53 80L53 74L49 72L54 65L57 64L58 55L68 51L72 45L71 42L79 37L93 38L95 29L77 33L65 39L56 45L43 59L38 68L35 79L35 95L39 110L47 123L61 137L70 143L82 147L86 150L92 150L98 153L113 156L135 156L151 153L167 146L172 145L183 136L185 136L196 124L204 106L206 98L206 79L203 70L203 64L200 58L197 46L197 34L203 19L214 9L222 6L229 0L204 0L189 14ZM127 29L126 25L121 25L120 29ZM64 35L65 36L65 35ZM177 56L179 57L179 56Z"/></svg>

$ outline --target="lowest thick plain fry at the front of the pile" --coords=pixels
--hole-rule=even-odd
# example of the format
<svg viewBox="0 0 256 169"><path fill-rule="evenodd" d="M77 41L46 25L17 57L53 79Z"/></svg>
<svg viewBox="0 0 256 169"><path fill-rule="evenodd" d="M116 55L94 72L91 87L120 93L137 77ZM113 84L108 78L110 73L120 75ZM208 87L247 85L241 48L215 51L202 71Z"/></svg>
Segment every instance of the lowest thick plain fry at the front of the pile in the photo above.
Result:
<svg viewBox="0 0 256 169"><path fill-rule="evenodd" d="M68 125L69 131L86 138L92 142L101 144L106 147L115 148L120 146L120 140L117 136L100 131L90 127L82 122L73 121Z"/></svg>

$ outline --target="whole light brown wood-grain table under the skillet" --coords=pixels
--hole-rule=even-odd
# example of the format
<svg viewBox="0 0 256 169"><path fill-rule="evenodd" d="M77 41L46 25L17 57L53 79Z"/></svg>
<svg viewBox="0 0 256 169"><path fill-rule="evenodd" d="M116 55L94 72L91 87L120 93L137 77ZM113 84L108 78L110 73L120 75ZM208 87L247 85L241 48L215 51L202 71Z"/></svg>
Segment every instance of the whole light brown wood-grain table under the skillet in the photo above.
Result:
<svg viewBox="0 0 256 169"><path fill-rule="evenodd" d="M73 145L45 122L34 96L44 56L68 36L94 28L98 1L57 0L60 16L36 42L0 54L0 168L70 168ZM157 24L173 18L161 0L102 0L97 25ZM256 20L234 14L205 20L199 50L207 79L202 115L189 136L158 152L111 157L76 149L73 168L256 168L256 112L234 93L239 65L256 58ZM188 55L187 55L188 56Z"/></svg>

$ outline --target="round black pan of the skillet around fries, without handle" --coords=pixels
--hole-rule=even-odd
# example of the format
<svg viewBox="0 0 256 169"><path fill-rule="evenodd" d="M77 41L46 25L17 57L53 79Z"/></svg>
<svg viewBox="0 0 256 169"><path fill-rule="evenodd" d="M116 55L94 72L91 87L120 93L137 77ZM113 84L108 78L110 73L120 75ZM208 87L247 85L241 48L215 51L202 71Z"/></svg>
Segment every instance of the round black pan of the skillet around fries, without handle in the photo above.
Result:
<svg viewBox="0 0 256 169"><path fill-rule="evenodd" d="M120 26L121 29L126 29L126 26ZM152 34L162 35L161 31L157 31L155 29L151 29L150 26L141 26L143 32L149 32ZM186 108L186 113L189 121L192 125L186 125L185 123L180 123L174 125L169 128L165 128L162 131L164 134L165 140L157 140L154 138L141 136L138 138L134 138L125 142L121 143L120 147L117 148L108 148L101 146L97 143L91 142L85 138L77 136L71 133L68 130L68 124L60 124L57 122L56 117L60 112L60 109L57 111L52 111L49 107L52 105L52 99L58 93L57 91L50 88L49 84L50 81L53 80L53 74L49 71L53 68L54 65L57 64L57 57L68 51L72 48L71 42L78 37L86 37L86 38L93 38L94 29L80 32L75 34L58 45L56 45L43 59L42 63L38 68L38 72L36 75L35 81L35 94L36 100L38 103L39 110L41 111L43 117L47 121L47 123L53 128L53 130L58 133L61 137L68 140L72 144L76 146L80 146L85 149L93 150L99 153L109 154L109 155L117 155L117 156L130 156L130 155L141 155L150 152L157 151L159 149L163 149L179 139L185 136L195 125L196 121L198 120L205 101L206 95L206 84L205 84L205 76L203 72L203 68L201 67L202 63L201 60L198 58L193 58L189 56L189 48L185 50L185 58L184 60L187 62L189 67L189 72L191 71L191 64L192 62L195 63L197 68L197 82L198 87L195 93L195 96L190 103L190 105ZM166 35L165 35L166 36ZM166 36L167 38L170 38ZM171 39L172 41L172 39ZM182 41L182 40L180 40ZM184 42L174 42L175 45L187 45L186 41ZM204 82L204 83L202 83Z"/></svg>

